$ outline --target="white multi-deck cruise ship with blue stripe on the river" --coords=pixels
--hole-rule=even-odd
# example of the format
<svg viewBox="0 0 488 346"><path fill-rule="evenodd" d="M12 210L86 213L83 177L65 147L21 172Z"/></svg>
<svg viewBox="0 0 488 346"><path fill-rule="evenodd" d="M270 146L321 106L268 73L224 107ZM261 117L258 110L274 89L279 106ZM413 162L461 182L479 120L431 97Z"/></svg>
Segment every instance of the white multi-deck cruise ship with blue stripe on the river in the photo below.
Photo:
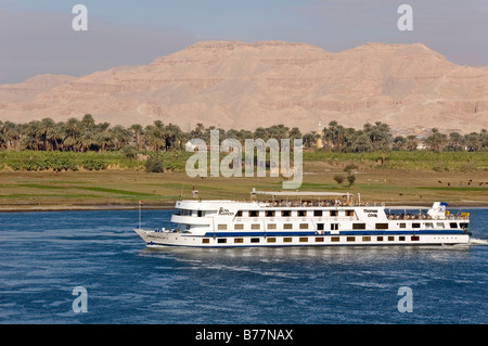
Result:
<svg viewBox="0 0 488 346"><path fill-rule="evenodd" d="M368 204L360 194L256 191L248 201L182 200L175 229L134 231L149 247L454 245L470 242L468 213L447 203L412 210Z"/></svg>

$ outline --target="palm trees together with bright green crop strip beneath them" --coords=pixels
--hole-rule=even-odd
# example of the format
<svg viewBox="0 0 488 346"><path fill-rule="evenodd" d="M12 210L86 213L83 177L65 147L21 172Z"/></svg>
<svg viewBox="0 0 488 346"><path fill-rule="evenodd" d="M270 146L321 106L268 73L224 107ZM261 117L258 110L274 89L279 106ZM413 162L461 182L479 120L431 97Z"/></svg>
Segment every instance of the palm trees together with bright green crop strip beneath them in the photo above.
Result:
<svg viewBox="0 0 488 346"><path fill-rule="evenodd" d="M183 170L191 155L184 151L185 143L195 138L209 143L213 129L216 128L197 124L193 130L184 132L178 126L164 125L160 120L145 127L134 124L126 128L108 123L97 124L90 114L81 120L69 118L57 123L51 118L27 124L0 121L0 169L61 171L114 167L147 171ZM220 141L233 138L243 145L245 139L301 138L306 149L305 161L368 162L380 163L387 168L437 171L486 169L487 166L488 133L485 129L464 136L458 132L445 134L433 129L424 139L394 137L389 126L380 121L365 124L361 130L331 121L321 132L308 133L283 125L259 127L255 131L218 130ZM317 148L318 141L322 148ZM418 150L421 142L426 150Z"/></svg>

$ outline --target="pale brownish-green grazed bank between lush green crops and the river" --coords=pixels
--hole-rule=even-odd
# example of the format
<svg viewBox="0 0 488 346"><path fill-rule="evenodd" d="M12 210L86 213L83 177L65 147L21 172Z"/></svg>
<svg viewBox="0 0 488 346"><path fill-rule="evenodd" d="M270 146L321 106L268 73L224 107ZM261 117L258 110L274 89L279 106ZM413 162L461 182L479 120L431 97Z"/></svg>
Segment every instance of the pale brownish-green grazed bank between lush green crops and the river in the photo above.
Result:
<svg viewBox="0 0 488 346"><path fill-rule="evenodd" d="M444 201L451 207L488 206L484 171L432 172L406 169L361 168L356 182L338 184L341 165L305 162L300 191L360 193L362 202L390 206L431 206ZM248 200L253 188L277 191L278 178L190 178L184 172L147 174L141 170L102 171L2 171L0 212L172 208L198 190L203 200Z"/></svg>

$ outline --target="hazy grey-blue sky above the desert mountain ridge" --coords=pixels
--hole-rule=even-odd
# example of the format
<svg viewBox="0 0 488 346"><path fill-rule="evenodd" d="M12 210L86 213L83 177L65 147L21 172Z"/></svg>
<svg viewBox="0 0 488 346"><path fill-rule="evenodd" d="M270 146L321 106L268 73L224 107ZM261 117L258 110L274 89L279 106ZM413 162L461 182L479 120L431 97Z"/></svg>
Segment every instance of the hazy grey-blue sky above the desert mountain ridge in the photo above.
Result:
<svg viewBox="0 0 488 346"><path fill-rule="evenodd" d="M76 4L87 30L74 30ZM401 4L412 30L400 30ZM204 40L283 40L339 52L365 42L424 43L488 66L487 0L0 0L0 85L149 64Z"/></svg>

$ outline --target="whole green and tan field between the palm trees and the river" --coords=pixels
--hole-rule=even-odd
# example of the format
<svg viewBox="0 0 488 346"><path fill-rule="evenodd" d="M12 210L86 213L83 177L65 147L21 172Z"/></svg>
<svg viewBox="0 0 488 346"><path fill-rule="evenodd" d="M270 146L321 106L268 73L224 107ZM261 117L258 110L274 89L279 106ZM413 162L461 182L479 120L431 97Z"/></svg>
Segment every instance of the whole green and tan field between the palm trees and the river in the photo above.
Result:
<svg viewBox="0 0 488 346"><path fill-rule="evenodd" d="M0 152L0 210L129 207L171 207L191 197L196 185L202 198L249 198L252 188L280 190L282 177L190 178L184 165L191 153L164 152L166 172L145 172L144 162L120 152ZM38 163L60 161L67 169ZM103 162L99 170L84 167ZM85 164L84 164L85 163ZM338 184L336 175L354 164L356 181ZM29 169L26 169L30 168ZM428 205L488 205L487 152L304 153L301 191L360 193L362 201Z"/></svg>

